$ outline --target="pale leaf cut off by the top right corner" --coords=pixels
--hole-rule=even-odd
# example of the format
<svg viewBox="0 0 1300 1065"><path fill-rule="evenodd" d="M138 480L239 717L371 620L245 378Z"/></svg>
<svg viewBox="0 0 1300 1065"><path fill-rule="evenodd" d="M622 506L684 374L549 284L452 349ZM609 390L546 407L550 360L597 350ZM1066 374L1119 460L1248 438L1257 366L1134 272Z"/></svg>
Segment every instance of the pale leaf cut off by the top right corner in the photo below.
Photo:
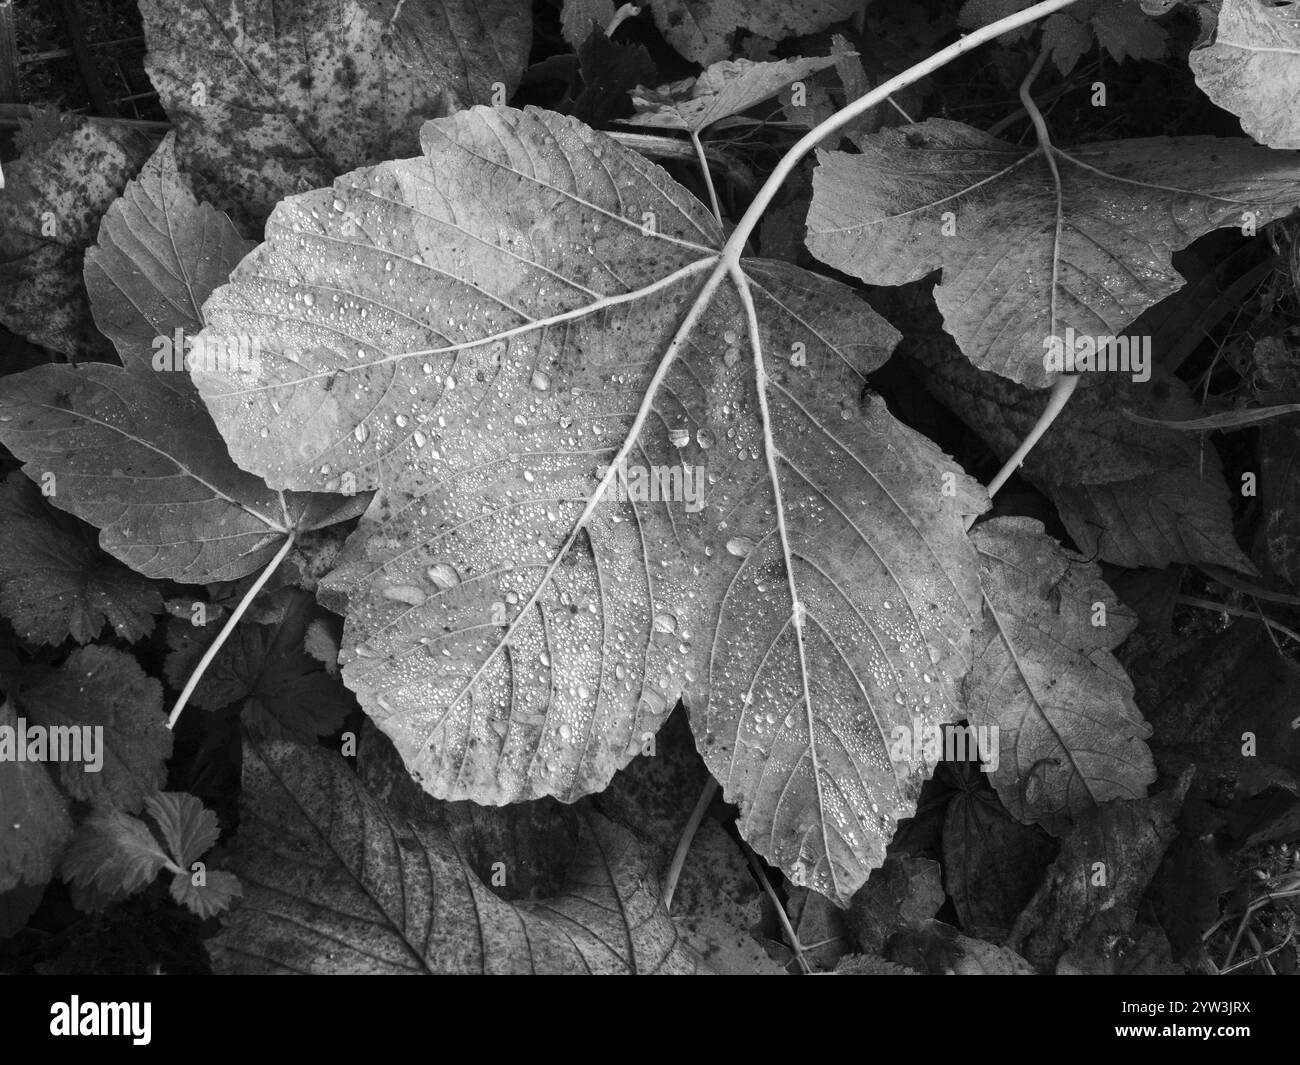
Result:
<svg viewBox="0 0 1300 1065"><path fill-rule="evenodd" d="M1270 148L1300 148L1300 8L1223 0L1214 40L1188 56L1196 83Z"/></svg>

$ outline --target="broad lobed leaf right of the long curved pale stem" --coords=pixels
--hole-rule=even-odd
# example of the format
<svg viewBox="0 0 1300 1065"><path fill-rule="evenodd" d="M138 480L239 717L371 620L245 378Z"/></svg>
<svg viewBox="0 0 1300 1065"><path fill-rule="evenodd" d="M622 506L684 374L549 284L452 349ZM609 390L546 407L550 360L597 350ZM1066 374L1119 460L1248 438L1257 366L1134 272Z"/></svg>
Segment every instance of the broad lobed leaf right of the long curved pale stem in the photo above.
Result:
<svg viewBox="0 0 1300 1065"><path fill-rule="evenodd" d="M1053 338L1122 334L1180 289L1175 250L1300 204L1300 164L1240 139L1044 151L931 118L853 140L818 152L809 250L872 285L942 269L935 300L965 355L1030 388L1057 376Z"/></svg>

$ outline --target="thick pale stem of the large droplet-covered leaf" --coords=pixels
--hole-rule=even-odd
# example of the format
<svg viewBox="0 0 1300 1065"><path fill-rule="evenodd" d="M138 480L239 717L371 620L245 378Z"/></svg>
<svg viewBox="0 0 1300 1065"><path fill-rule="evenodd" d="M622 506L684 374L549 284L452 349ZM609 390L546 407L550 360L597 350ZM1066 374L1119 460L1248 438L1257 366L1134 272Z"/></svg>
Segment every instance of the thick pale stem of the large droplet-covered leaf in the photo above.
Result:
<svg viewBox="0 0 1300 1065"><path fill-rule="evenodd" d="M824 122L814 126L807 134L801 137L784 156L781 156L780 163L776 164L776 168L768 176L767 181L763 182L763 187L758 190L758 194L754 196L753 203L750 203L749 209L744 213L740 224L732 233L731 239L727 241L727 244L723 248L723 257L727 259L728 263L740 261L745 243L758 226L759 218L763 217L763 212L771 205L777 191L785 183L785 179L794 172L800 160L812 151L820 140L829 137L837 129L848 125L859 114L871 111L871 108L876 104L889 99L889 96L894 92L906 88L909 85L919 82L922 78L928 78L940 68L946 66L954 59L966 55L971 49L978 48L980 44L993 40L993 38L1001 36L1011 30L1027 26L1039 18L1053 14L1054 12L1069 8L1074 3L1078 3L1078 0L1044 0L1044 3L1035 4L1032 8L1026 8L1022 12L1009 14L1006 18L991 22L988 26L982 26L974 33L966 34L959 40L953 42L946 48L935 52L935 55L928 59L922 60L915 66L909 66L901 74L883 82L864 96L859 96L852 104L848 104L841 111L837 111Z"/></svg>

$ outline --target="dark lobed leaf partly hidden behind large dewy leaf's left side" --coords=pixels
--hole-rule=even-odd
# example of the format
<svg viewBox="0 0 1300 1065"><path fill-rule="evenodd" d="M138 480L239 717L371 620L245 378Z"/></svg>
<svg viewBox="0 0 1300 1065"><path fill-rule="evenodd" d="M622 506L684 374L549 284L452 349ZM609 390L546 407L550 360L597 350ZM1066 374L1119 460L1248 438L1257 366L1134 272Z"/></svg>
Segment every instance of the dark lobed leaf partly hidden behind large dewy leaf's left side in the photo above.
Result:
<svg viewBox="0 0 1300 1065"><path fill-rule="evenodd" d="M86 256L95 317L122 365L5 377L0 441L133 570L231 580L265 566L291 528L330 524L364 498L286 497L230 462L182 363L203 326L200 304L251 246L195 200L172 144L112 205ZM222 351L238 338L228 339ZM239 358L251 356L246 347Z"/></svg>

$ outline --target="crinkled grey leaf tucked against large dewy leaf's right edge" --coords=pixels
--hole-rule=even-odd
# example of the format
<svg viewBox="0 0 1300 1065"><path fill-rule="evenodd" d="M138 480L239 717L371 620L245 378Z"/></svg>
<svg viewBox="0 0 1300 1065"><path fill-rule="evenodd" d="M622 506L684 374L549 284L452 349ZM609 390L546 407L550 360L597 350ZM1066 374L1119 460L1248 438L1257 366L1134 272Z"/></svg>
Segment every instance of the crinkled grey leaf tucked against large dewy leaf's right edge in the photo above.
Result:
<svg viewBox="0 0 1300 1065"><path fill-rule="evenodd" d="M976 728L997 730L991 776L1002 805L1063 835L1102 802L1144 797L1156 779L1150 726L1110 654L1138 619L1096 566L1032 519L992 519L971 540L985 624L966 709Z"/></svg>

